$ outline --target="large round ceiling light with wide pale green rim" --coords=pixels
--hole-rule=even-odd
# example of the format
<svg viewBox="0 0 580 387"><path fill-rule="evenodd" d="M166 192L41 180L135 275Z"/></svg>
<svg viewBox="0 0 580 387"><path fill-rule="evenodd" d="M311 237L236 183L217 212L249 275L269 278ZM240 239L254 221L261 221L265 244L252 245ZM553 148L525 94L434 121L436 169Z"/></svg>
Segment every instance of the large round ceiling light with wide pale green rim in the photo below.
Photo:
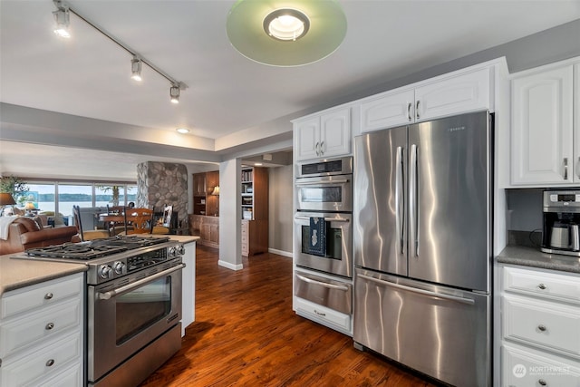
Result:
<svg viewBox="0 0 580 387"><path fill-rule="evenodd" d="M237 52L252 61L300 66L336 51L346 16L335 0L238 0L226 29Z"/></svg>

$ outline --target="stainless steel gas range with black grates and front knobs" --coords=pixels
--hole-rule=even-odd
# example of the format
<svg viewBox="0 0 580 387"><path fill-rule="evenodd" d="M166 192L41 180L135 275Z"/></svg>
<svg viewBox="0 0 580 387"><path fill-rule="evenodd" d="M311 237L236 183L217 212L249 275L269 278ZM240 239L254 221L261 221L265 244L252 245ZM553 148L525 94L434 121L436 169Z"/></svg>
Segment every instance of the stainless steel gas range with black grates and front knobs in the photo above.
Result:
<svg viewBox="0 0 580 387"><path fill-rule="evenodd" d="M87 384L136 386L181 347L181 256L169 237L111 237L26 250L84 263Z"/></svg>

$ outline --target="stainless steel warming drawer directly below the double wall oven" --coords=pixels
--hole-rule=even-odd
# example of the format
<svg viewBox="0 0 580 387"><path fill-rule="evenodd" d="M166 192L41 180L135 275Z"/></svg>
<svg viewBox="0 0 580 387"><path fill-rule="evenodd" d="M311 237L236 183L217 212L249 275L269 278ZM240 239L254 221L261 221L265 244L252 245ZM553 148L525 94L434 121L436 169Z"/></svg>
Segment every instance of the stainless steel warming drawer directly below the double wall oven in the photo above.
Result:
<svg viewBox="0 0 580 387"><path fill-rule="evenodd" d="M353 313L353 285L343 281L296 271L295 295L343 314Z"/></svg>

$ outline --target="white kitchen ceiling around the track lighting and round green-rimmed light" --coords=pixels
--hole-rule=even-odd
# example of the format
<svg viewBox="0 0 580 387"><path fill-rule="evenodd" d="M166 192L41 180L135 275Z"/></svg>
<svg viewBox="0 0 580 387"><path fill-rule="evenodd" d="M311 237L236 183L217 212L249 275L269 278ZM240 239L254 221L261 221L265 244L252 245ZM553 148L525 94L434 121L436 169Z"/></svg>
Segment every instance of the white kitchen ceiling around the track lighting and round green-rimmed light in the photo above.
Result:
<svg viewBox="0 0 580 387"><path fill-rule="evenodd" d="M579 0L342 0L348 30L335 53L305 66L273 67L248 60L227 41L233 0L67 3L189 88L181 92L179 105L171 104L165 78L143 66L143 82L132 81L131 55L75 15L73 37L57 38L51 0L0 0L0 102L110 121L98 131L91 125L50 128L59 136L86 138L76 150L2 141L0 172L36 176L32 169L46 174L53 163L53 175L66 176L62 157L76 155L86 164L74 164L84 176L101 177L111 169L97 166L114 165L119 178L134 179L136 162L162 158L140 156L131 147L124 155L97 149L94 140L132 139L224 153L238 144L279 137L291 131L289 119L361 85L397 79L580 18ZM191 133L176 137L177 127ZM59 145L42 135L38 139L34 142ZM23 155L43 161L34 165Z"/></svg>

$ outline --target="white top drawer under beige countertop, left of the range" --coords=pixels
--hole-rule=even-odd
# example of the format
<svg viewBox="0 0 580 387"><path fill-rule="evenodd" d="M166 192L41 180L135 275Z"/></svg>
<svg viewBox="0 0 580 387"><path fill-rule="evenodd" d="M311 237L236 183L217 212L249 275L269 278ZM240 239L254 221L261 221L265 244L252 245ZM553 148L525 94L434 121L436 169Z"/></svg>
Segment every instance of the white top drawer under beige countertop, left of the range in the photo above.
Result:
<svg viewBox="0 0 580 387"><path fill-rule="evenodd" d="M43 305L53 305L73 295L81 295L83 274L46 281L7 292L2 297L0 318L6 318Z"/></svg>

